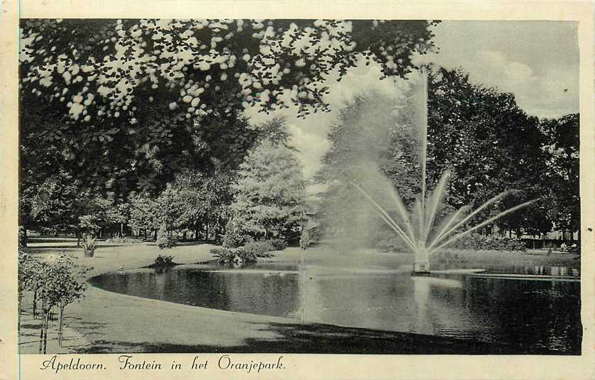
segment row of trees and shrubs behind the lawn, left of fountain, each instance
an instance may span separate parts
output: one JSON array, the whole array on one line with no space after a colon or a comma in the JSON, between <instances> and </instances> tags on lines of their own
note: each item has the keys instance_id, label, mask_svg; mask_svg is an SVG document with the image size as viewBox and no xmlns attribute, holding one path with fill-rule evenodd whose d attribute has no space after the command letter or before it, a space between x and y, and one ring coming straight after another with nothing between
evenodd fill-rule
<instances>
[{"instance_id":1,"label":"row of trees and shrubs behind the lawn, left of fountain","mask_svg":"<svg viewBox=\"0 0 595 380\"><path fill-rule=\"evenodd\" d=\"M21 195L21 223L43 234L156 239L164 229L182 239L221 241L233 219L246 237L296 240L304 214L301 166L287 145L284 119L261 131L235 168L183 168L156 193L93 192L61 170Z\"/></svg>"}]
</instances>

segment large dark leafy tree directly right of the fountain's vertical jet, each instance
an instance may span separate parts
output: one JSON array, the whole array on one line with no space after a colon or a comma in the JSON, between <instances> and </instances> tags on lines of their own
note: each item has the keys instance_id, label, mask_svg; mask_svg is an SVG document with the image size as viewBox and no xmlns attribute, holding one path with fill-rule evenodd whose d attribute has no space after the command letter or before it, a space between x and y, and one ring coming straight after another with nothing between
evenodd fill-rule
<instances>
[{"instance_id":1,"label":"large dark leafy tree directly right of the fountain's vertical jet","mask_svg":"<svg viewBox=\"0 0 595 380\"><path fill-rule=\"evenodd\" d=\"M473 85L461 69L436 70L429 75L428 123L429 176L436 183L441 170L451 169L448 202L454 207L479 205L509 191L488 211L495 214L545 195L545 136L539 120L525 114L513 94ZM533 205L498 225L518 234L549 231L551 224L534 223L544 217L541 211Z\"/></svg>"}]
</instances>

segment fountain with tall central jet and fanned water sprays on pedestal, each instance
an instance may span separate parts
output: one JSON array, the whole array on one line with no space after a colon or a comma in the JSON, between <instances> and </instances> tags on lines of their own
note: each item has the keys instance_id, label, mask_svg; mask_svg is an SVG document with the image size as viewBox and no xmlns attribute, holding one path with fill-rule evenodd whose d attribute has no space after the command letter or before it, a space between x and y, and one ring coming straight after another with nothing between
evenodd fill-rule
<instances>
[{"instance_id":1,"label":"fountain with tall central jet and fanned water sprays on pedestal","mask_svg":"<svg viewBox=\"0 0 595 380\"><path fill-rule=\"evenodd\" d=\"M434 254L441 248L444 248L448 244L451 244L457 239L470 234L471 232L486 226L494 222L496 219L503 217L504 215L510 214L522 207L530 205L535 200L521 203L515 207L510 207L508 210L500 212L494 217L490 217L473 227L465 229L462 232L457 232L457 229L466 225L473 217L478 215L479 212L486 209L489 205L502 199L507 192L502 192L499 195L491 198L483 205L478 207L476 210L469 212L468 206L461 207L451 215L444 217L443 225L438 231L433 232L434 224L436 222L436 213L439 210L444 195L446 194L446 184L448 183L450 172L446 170L434 188L434 191L426 194L426 163L427 163L427 129L428 129L428 102L427 102L427 69L422 67L421 71L421 85L417 85L418 89L418 102L420 112L420 136L421 136L421 167L422 167L422 190L415 197L415 201L412 210L408 211L401 200L400 195L396 190L392 190L392 198L395 200L397 209L397 217L391 217L384 208L382 208L369 194L366 192L361 185L351 183L357 188L371 203L374 205L375 212L395 231L398 237L407 244L407 247L415 254L415 262L413 266L412 274L414 275L428 275L429 274L429 256ZM413 223L415 221L416 223Z\"/></svg>"}]
</instances>

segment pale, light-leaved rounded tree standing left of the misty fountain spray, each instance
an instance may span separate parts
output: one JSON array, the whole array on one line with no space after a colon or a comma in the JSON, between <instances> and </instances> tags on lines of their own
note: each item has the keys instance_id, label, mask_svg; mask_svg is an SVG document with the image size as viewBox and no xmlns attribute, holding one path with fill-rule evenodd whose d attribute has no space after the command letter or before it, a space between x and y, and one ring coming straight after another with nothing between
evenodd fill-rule
<instances>
[{"instance_id":1,"label":"pale, light-leaved rounded tree standing left of the misty fountain spray","mask_svg":"<svg viewBox=\"0 0 595 380\"><path fill-rule=\"evenodd\" d=\"M303 219L304 181L294 153L263 141L240 165L232 203L234 222L254 237L294 237Z\"/></svg>"}]
</instances>

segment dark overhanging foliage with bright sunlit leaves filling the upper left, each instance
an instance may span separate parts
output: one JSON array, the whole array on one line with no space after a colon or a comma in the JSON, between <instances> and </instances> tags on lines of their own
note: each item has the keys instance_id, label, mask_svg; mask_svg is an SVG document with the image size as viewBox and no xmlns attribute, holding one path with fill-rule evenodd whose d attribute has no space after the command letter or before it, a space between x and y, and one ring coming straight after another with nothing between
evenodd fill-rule
<instances>
[{"instance_id":1,"label":"dark overhanging foliage with bright sunlit leaves filling the upper left","mask_svg":"<svg viewBox=\"0 0 595 380\"><path fill-rule=\"evenodd\" d=\"M330 73L361 57L402 77L435 23L23 20L21 162L35 177L23 184L65 168L91 187L154 194L179 168L241 163L254 140L246 107L287 107L289 95L302 116L324 110Z\"/></svg>"}]
</instances>

